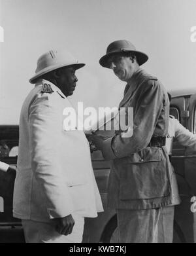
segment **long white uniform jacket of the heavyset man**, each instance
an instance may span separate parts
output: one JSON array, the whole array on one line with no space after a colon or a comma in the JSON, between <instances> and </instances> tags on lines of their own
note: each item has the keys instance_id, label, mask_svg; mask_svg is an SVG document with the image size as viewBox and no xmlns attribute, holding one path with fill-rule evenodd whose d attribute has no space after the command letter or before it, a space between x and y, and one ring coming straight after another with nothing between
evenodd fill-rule
<instances>
[{"instance_id":1,"label":"long white uniform jacket of the heavyset man","mask_svg":"<svg viewBox=\"0 0 196 256\"><path fill-rule=\"evenodd\" d=\"M49 84L54 92L42 92ZM103 211L88 140L83 131L63 129L63 110L72 107L51 82L35 84L20 115L14 217L48 221L77 212Z\"/></svg>"}]
</instances>

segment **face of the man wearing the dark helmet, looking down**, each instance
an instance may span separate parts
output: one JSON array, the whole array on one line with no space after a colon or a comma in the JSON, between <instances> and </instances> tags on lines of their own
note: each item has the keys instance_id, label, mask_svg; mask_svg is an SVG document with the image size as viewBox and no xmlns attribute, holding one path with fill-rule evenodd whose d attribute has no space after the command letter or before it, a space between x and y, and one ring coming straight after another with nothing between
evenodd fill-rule
<instances>
[{"instance_id":1,"label":"face of the man wearing the dark helmet, looking down","mask_svg":"<svg viewBox=\"0 0 196 256\"><path fill-rule=\"evenodd\" d=\"M110 68L113 69L114 74L122 81L131 79L136 71L137 62L131 57L114 55L108 60Z\"/></svg>"}]
</instances>

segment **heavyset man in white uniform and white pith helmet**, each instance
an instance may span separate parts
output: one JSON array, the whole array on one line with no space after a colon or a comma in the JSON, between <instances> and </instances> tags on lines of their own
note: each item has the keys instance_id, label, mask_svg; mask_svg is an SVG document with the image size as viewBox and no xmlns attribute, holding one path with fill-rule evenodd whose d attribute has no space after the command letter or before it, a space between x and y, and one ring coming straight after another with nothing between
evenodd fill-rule
<instances>
[{"instance_id":1,"label":"heavyset man in white uniform and white pith helmet","mask_svg":"<svg viewBox=\"0 0 196 256\"><path fill-rule=\"evenodd\" d=\"M26 242L81 242L84 217L103 211L88 140L63 122L83 66L68 52L50 50L29 80L35 88L20 115L13 209Z\"/></svg>"}]
</instances>

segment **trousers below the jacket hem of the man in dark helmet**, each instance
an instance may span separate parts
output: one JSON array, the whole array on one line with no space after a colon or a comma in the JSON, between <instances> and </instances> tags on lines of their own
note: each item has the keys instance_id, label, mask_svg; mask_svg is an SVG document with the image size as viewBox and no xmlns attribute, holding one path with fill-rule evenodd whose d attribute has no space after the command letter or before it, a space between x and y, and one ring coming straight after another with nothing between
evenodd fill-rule
<instances>
[{"instance_id":1,"label":"trousers below the jacket hem of the man in dark helmet","mask_svg":"<svg viewBox=\"0 0 196 256\"><path fill-rule=\"evenodd\" d=\"M118 242L171 243L174 206L150 210L116 210Z\"/></svg>"}]
</instances>

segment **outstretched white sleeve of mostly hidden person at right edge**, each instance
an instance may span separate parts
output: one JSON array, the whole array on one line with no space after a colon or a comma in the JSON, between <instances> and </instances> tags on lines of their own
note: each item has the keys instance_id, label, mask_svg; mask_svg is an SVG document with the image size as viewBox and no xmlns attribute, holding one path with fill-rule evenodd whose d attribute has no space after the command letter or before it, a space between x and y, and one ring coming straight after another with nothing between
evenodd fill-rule
<instances>
[{"instance_id":1,"label":"outstretched white sleeve of mostly hidden person at right edge","mask_svg":"<svg viewBox=\"0 0 196 256\"><path fill-rule=\"evenodd\" d=\"M173 119L175 122L175 137L174 140L178 141L185 147L192 148L196 151L196 134L189 132L177 119Z\"/></svg>"}]
</instances>

